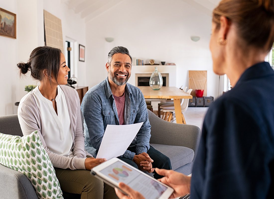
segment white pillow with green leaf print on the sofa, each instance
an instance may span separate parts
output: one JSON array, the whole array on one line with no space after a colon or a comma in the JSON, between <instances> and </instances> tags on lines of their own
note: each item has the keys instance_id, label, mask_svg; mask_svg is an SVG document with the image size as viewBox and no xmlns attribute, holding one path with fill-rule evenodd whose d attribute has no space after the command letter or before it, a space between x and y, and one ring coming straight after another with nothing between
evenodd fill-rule
<instances>
[{"instance_id":1,"label":"white pillow with green leaf print on the sofa","mask_svg":"<svg viewBox=\"0 0 274 199\"><path fill-rule=\"evenodd\" d=\"M37 131L23 137L0 133L0 163L23 173L38 198L63 198L52 162Z\"/></svg>"}]
</instances>

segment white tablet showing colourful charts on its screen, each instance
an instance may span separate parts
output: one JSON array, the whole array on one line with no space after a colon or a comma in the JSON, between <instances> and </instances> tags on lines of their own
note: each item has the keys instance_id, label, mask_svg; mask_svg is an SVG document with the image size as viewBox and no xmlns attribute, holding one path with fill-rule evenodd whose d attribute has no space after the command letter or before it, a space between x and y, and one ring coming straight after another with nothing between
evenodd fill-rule
<instances>
[{"instance_id":1,"label":"white tablet showing colourful charts on its screen","mask_svg":"<svg viewBox=\"0 0 274 199\"><path fill-rule=\"evenodd\" d=\"M112 187L119 188L119 183L129 186L137 198L167 199L173 189L166 184L150 177L144 172L132 167L118 158L112 158L92 169L95 177L103 180ZM124 186L127 188L127 186ZM121 188L119 188L122 192ZM126 194L126 193L125 193ZM133 196L132 196L133 197Z\"/></svg>"}]
</instances>

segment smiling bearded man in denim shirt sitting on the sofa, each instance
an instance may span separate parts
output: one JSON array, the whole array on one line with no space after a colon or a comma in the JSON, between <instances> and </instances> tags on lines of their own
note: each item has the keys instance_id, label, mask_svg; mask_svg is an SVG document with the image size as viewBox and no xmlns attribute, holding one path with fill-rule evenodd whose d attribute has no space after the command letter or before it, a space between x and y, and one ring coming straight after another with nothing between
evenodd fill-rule
<instances>
[{"instance_id":1,"label":"smiling bearded man in denim shirt sitting on the sofa","mask_svg":"<svg viewBox=\"0 0 274 199\"><path fill-rule=\"evenodd\" d=\"M132 57L127 48L113 48L105 65L108 77L85 94L81 104L85 149L96 157L108 124L144 122L129 148L118 158L137 169L153 172L158 179L162 176L154 169L171 169L171 163L167 156L149 145L150 123L144 96L139 88L127 83L131 65Z\"/></svg>"}]
</instances>

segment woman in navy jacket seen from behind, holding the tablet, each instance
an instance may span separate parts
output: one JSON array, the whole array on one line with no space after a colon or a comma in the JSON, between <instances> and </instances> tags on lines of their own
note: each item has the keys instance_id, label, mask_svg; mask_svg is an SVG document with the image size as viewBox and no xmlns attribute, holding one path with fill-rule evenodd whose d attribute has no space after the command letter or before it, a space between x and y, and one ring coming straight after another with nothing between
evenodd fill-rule
<instances>
[{"instance_id":1,"label":"woman in navy jacket seen from behind, holding the tablet","mask_svg":"<svg viewBox=\"0 0 274 199\"><path fill-rule=\"evenodd\" d=\"M274 198L274 71L264 61L273 42L274 0L222 0L213 10L213 71L233 89L209 107L192 177L155 169L171 198Z\"/></svg>"}]
</instances>

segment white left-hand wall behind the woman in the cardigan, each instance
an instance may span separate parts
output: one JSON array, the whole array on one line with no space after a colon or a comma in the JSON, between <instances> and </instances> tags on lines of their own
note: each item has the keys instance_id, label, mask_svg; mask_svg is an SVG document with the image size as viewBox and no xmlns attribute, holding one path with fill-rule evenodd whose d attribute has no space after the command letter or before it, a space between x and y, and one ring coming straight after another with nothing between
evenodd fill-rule
<instances>
[{"instance_id":1,"label":"white left-hand wall behind the woman in the cardigan","mask_svg":"<svg viewBox=\"0 0 274 199\"><path fill-rule=\"evenodd\" d=\"M17 38L0 36L0 80L2 82L0 97L0 116L15 114L15 102L27 94L25 85L37 84L30 78L19 78L16 64L26 62L31 51L44 45L43 9L61 19L63 40L65 36L85 45L85 21L67 8L60 0L1 0L0 7L17 15ZM78 51L78 48L77 48ZM78 59L78 57L77 57ZM78 85L85 85L85 63L78 65Z\"/></svg>"}]
</instances>

